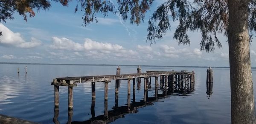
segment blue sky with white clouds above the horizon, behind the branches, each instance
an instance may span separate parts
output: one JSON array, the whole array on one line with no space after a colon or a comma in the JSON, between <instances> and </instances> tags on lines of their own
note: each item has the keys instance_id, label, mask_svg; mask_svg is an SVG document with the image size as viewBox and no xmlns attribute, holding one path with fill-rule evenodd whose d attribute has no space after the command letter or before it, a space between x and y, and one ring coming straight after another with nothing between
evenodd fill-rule
<instances>
[{"instance_id":1,"label":"blue sky with white clouds above the horizon, behind the branches","mask_svg":"<svg viewBox=\"0 0 256 124\"><path fill-rule=\"evenodd\" d=\"M83 24L83 13L74 13L76 0L68 7L52 3L35 17L24 21L15 14L14 20L0 23L0 62L229 66L227 37L218 35L222 48L213 52L200 51L200 32L190 32L189 45L173 39L178 22L156 44L146 40L148 18L163 0L157 0L139 26L123 21L120 16L97 14L98 23ZM250 45L252 67L256 67L256 38Z\"/></svg>"}]
</instances>

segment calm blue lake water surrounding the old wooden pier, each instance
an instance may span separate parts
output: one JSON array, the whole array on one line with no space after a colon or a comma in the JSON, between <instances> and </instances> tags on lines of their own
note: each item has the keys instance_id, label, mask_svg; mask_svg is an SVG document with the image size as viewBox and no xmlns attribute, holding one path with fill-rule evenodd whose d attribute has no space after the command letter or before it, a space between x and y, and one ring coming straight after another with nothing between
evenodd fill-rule
<instances>
[{"instance_id":1,"label":"calm blue lake water surrounding the old wooden pier","mask_svg":"<svg viewBox=\"0 0 256 124\"><path fill-rule=\"evenodd\" d=\"M25 66L28 73L25 75ZM17 73L20 68L20 73ZM208 96L206 91L207 68L171 68L171 67L141 67L147 70L195 71L194 91L182 95L169 94L166 97L144 104L136 113L123 114L115 119L114 124L230 124L230 76L228 68L213 68L213 93ZM121 66L121 74L136 73L135 66ZM252 70L253 75L256 70ZM0 114L13 116L42 124L53 124L54 86L52 79L66 76L91 76L116 74L116 66L93 65L14 65L0 64ZM152 79L154 81L154 78ZM256 87L256 76L253 77L253 87ZM136 85L137 86L137 85ZM148 101L154 98L155 85L148 90ZM73 87L73 111L68 116L68 87L59 87L60 105L58 121L65 124L70 119L73 123L86 123L92 118L91 113L91 83L81 83ZM143 103L144 86L135 91L135 101ZM163 89L158 90L163 95ZM131 104L133 102L131 81ZM254 90L254 94L255 90ZM127 108L127 81L122 80L119 88L118 107L115 107L115 82L108 84L108 111L122 113ZM104 83L96 82L95 117L104 115ZM55 121L55 122L58 122Z\"/></svg>"}]
</instances>

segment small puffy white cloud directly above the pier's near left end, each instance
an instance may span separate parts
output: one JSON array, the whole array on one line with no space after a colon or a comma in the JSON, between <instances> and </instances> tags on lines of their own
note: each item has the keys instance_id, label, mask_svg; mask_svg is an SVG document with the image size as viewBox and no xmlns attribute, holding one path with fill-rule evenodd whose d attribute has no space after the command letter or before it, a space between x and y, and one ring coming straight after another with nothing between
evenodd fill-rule
<instances>
[{"instance_id":1,"label":"small puffy white cloud directly above the pier's near left end","mask_svg":"<svg viewBox=\"0 0 256 124\"><path fill-rule=\"evenodd\" d=\"M52 37L52 45L50 45L50 48L60 50L82 51L83 45L81 45L80 43L73 42L72 40L67 39L65 37Z\"/></svg>"}]
</instances>

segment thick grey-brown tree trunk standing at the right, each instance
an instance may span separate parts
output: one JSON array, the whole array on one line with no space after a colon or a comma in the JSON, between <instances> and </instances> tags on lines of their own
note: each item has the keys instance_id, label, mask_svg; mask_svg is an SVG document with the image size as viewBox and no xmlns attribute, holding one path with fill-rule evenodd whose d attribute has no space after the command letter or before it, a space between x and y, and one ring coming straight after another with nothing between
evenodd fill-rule
<instances>
[{"instance_id":1,"label":"thick grey-brown tree trunk standing at the right","mask_svg":"<svg viewBox=\"0 0 256 124\"><path fill-rule=\"evenodd\" d=\"M249 1L228 0L232 124L256 123L248 34Z\"/></svg>"}]
</instances>

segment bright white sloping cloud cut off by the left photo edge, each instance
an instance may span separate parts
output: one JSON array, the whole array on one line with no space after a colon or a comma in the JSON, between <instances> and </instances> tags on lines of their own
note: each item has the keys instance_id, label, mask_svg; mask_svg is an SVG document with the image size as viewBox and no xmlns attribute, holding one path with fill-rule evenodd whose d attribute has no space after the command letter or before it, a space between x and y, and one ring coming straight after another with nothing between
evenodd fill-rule
<instances>
[{"instance_id":1,"label":"bright white sloping cloud cut off by the left photo edge","mask_svg":"<svg viewBox=\"0 0 256 124\"><path fill-rule=\"evenodd\" d=\"M18 48L32 48L41 45L41 41L31 38L30 42L26 42L20 33L14 33L9 28L0 23L0 31L2 31L3 36L0 37L0 45L18 47Z\"/></svg>"}]
</instances>

